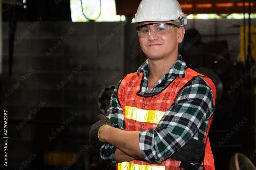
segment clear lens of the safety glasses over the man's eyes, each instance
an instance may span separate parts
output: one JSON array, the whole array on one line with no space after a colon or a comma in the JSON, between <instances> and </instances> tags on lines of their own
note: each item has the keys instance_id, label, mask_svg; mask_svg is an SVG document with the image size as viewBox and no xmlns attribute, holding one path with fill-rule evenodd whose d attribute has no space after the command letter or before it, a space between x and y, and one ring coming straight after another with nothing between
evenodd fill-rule
<instances>
[{"instance_id":1,"label":"clear lens of the safety glasses over the man's eyes","mask_svg":"<svg viewBox=\"0 0 256 170\"><path fill-rule=\"evenodd\" d=\"M157 35L165 35L168 34L170 32L172 32L172 26L171 25L167 25L165 23L160 23L160 24L153 24L153 25L145 25L143 27L140 27L138 29L138 35L141 38L146 38L148 37L150 34L152 34L153 32Z\"/></svg>"}]
</instances>

